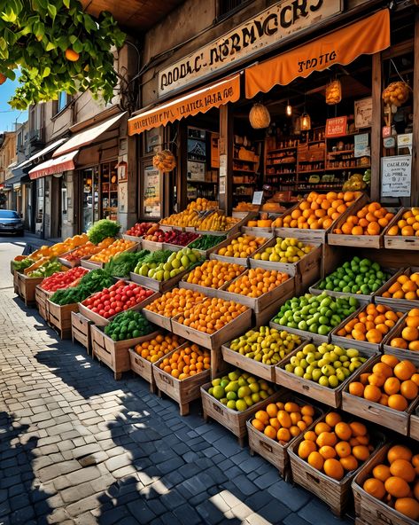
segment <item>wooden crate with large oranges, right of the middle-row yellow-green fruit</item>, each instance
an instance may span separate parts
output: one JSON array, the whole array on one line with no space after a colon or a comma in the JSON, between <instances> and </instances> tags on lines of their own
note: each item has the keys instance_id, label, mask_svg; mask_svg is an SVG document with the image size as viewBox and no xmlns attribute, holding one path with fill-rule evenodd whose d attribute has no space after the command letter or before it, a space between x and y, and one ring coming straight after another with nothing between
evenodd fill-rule
<instances>
[{"instance_id":1,"label":"wooden crate with large oranges, right of the middle-row yellow-green fruit","mask_svg":"<svg viewBox=\"0 0 419 525\"><path fill-rule=\"evenodd\" d=\"M411 361L391 354L372 357L345 386L342 409L407 435L418 383L419 373Z\"/></svg>"}]
</instances>

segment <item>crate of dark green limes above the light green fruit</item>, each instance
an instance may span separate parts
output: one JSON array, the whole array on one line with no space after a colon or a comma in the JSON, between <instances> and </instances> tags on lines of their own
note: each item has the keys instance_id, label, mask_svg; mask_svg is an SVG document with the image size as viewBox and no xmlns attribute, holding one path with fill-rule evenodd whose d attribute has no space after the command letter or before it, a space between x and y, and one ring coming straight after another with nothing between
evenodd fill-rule
<instances>
[{"instance_id":1,"label":"crate of dark green limes above the light green fruit","mask_svg":"<svg viewBox=\"0 0 419 525\"><path fill-rule=\"evenodd\" d=\"M356 296L360 302L370 302L371 296L392 277L394 270L386 270L369 259L353 257L326 278L310 287L311 294L326 291L334 297Z\"/></svg>"}]
</instances>

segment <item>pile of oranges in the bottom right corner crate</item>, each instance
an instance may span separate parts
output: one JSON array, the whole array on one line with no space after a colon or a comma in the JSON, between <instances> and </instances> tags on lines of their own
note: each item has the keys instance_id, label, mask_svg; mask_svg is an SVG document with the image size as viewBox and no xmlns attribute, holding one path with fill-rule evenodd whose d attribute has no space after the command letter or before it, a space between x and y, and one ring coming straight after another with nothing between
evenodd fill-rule
<instances>
[{"instance_id":1,"label":"pile of oranges in the bottom right corner crate","mask_svg":"<svg viewBox=\"0 0 419 525\"><path fill-rule=\"evenodd\" d=\"M419 454L396 444L387 452L387 463L376 465L373 477L362 488L412 520L419 520Z\"/></svg>"}]
</instances>

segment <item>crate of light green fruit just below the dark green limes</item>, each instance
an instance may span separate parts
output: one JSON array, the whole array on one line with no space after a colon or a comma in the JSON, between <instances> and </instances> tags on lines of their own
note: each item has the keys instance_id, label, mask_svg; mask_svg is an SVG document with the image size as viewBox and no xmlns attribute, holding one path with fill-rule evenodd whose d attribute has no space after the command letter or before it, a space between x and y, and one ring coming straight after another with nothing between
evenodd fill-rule
<instances>
[{"instance_id":1,"label":"crate of light green fruit just below the dark green limes","mask_svg":"<svg viewBox=\"0 0 419 525\"><path fill-rule=\"evenodd\" d=\"M311 338L314 342L328 342L330 332L352 315L358 306L355 297L332 297L326 292L320 295L304 294L284 302L269 325Z\"/></svg>"}]
</instances>

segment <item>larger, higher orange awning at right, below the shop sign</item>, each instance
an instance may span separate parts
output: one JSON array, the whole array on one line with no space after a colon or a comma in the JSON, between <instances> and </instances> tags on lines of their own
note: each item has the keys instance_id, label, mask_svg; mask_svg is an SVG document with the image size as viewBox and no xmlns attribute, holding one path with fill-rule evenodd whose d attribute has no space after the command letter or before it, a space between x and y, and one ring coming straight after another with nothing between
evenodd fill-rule
<instances>
[{"instance_id":1,"label":"larger, higher orange awning at right, below the shop sign","mask_svg":"<svg viewBox=\"0 0 419 525\"><path fill-rule=\"evenodd\" d=\"M312 43L287 51L245 70L246 98L271 90L276 84L286 86L299 77L306 78L334 64L350 64L360 55L371 55L390 46L388 9L324 35Z\"/></svg>"}]
</instances>

